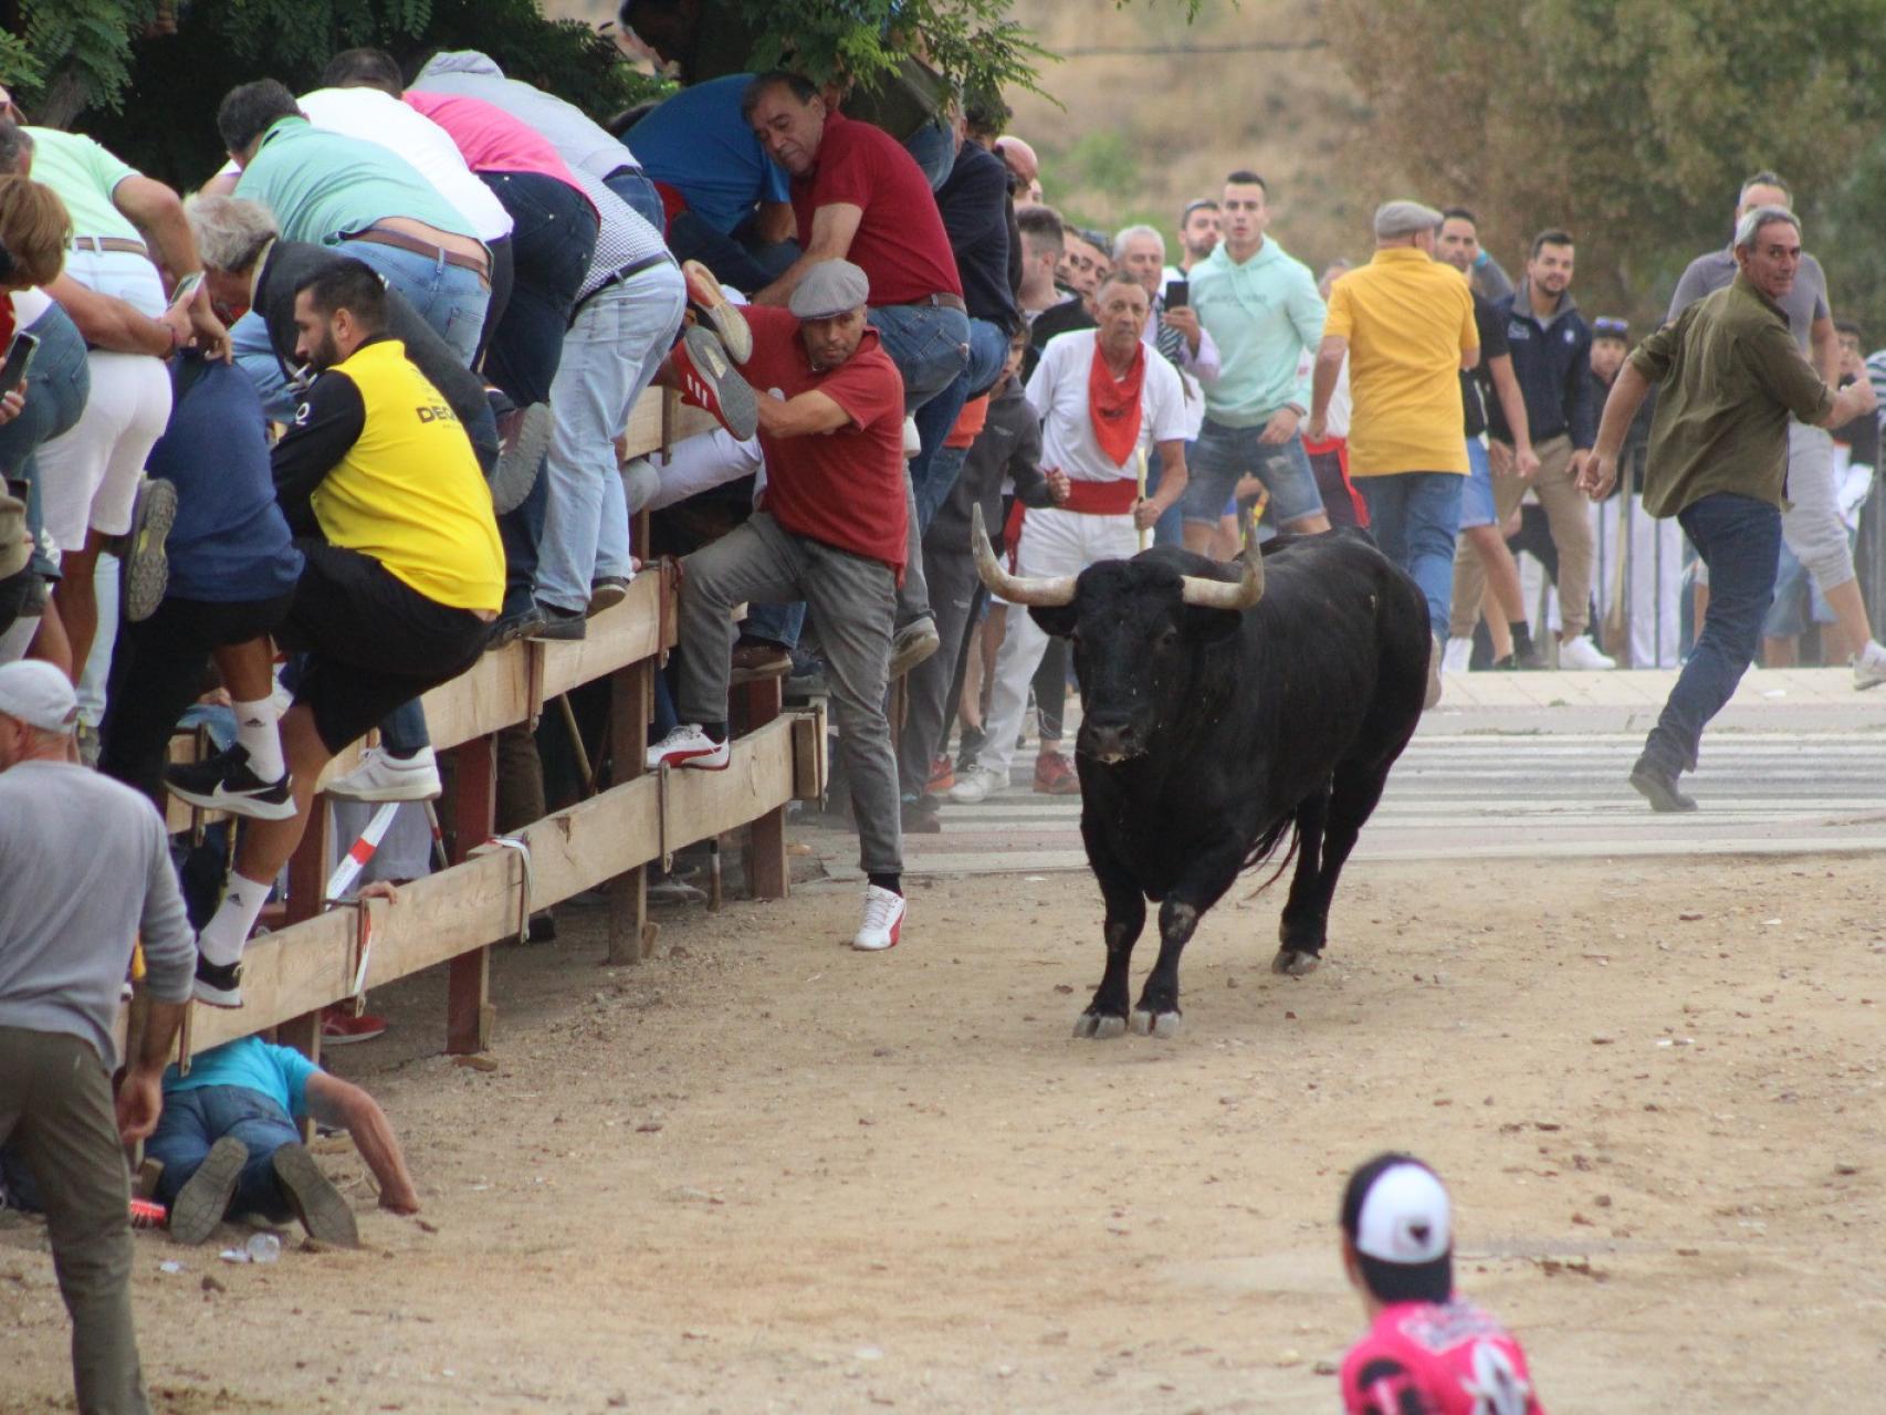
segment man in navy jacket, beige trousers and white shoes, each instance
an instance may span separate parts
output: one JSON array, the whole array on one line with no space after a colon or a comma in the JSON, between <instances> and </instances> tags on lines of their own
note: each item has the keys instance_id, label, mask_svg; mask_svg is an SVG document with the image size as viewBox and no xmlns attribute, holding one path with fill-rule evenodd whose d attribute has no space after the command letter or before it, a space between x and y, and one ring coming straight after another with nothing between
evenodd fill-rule
<instances>
[{"instance_id":1,"label":"man in navy jacket, beige trousers and white shoes","mask_svg":"<svg viewBox=\"0 0 1886 1415\"><path fill-rule=\"evenodd\" d=\"M1584 632L1592 623L1594 551L1590 509L1577 481L1597 436L1597 409L1586 379L1592 330L1569 291L1573 255L1569 232L1539 232L1518 287L1496 300L1494 308L1505 319L1513 374L1526 396L1526 421L1539 455L1539 472L1530 489L1545 508L1552 543L1558 547L1558 666L1616 668L1616 660L1607 658ZM1494 464L1494 508L1503 523L1526 496L1528 481L1516 472L1513 432L1497 402L1486 409L1486 421L1492 434L1488 458ZM1456 594L1464 589L1471 596L1469 604L1477 604L1484 572L1471 562L1462 579L1465 583L1456 585Z\"/></svg>"}]
</instances>

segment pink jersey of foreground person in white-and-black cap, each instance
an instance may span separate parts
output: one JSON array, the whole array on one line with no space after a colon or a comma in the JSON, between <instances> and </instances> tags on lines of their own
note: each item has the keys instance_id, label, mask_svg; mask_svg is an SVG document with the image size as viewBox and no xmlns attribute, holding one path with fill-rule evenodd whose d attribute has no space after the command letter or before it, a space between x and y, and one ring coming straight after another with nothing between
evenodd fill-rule
<instances>
[{"instance_id":1,"label":"pink jersey of foreground person in white-and-black cap","mask_svg":"<svg viewBox=\"0 0 1886 1415\"><path fill-rule=\"evenodd\" d=\"M1526 1353L1471 1302L1398 1302L1343 1360L1348 1415L1545 1415Z\"/></svg>"}]
</instances>

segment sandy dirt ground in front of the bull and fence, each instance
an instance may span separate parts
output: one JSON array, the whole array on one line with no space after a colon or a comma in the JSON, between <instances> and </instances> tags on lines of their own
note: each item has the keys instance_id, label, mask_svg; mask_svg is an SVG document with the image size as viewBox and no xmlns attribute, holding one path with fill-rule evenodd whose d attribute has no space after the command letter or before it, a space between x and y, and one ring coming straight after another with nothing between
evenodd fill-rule
<instances>
[{"instance_id":1,"label":"sandy dirt ground in front of the bull and fence","mask_svg":"<svg viewBox=\"0 0 1886 1415\"><path fill-rule=\"evenodd\" d=\"M434 1053L438 977L330 1057L424 1223L326 1140L364 1251L140 1236L145 1372L166 1411L1330 1411L1341 1181L1409 1147L1556 1415L1880 1409L1878 883L1364 864L1307 979L1267 972L1275 894L1209 915L1171 1041L1071 1040L1084 875L915 881L881 957L851 887L670 913L622 970L566 907L500 951L494 1070ZM0 1228L0 1406L68 1409L38 1224Z\"/></svg>"}]
</instances>

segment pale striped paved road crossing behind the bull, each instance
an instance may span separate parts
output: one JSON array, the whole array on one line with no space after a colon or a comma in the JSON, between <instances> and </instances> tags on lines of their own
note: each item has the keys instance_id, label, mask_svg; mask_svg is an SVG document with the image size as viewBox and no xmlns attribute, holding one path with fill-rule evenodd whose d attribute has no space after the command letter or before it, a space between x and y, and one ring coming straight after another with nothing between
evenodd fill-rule
<instances>
[{"instance_id":1,"label":"pale striped paved road crossing behind the bull","mask_svg":"<svg viewBox=\"0 0 1886 1415\"><path fill-rule=\"evenodd\" d=\"M1875 704L1867 704L1873 708ZM1877 704L1886 708L1886 704ZM1409 745L1358 858L1790 855L1886 851L1886 732L1720 732L1686 777L1696 815L1658 815L1626 783L1641 732L1447 730L1430 719ZM949 804L943 830L905 838L913 874L1086 870L1079 796L1015 785L979 806ZM849 847L828 860L851 874Z\"/></svg>"}]
</instances>

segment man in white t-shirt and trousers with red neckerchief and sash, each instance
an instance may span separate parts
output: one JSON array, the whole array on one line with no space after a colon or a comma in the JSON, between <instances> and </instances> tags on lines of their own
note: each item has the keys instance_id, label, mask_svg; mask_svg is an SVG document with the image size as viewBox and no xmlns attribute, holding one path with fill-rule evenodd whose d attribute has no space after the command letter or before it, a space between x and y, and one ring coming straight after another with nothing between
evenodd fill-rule
<instances>
[{"instance_id":1,"label":"man in white t-shirt and trousers with red neckerchief and sash","mask_svg":"<svg viewBox=\"0 0 1886 1415\"><path fill-rule=\"evenodd\" d=\"M1184 494L1184 391L1173 366L1141 341L1150 302L1124 270L1094 292L1100 328L1049 340L1028 379L1028 402L1041 419L1041 470L1058 506L1028 511L1009 545L1022 575L1077 575L1096 560L1124 560ZM1141 466L1158 451L1166 474L1141 496ZM1049 636L1032 615L1009 615L996 657L988 740L973 768L956 779L954 802L979 802L1009 785L1009 760L1022 726L1028 681Z\"/></svg>"}]
</instances>

